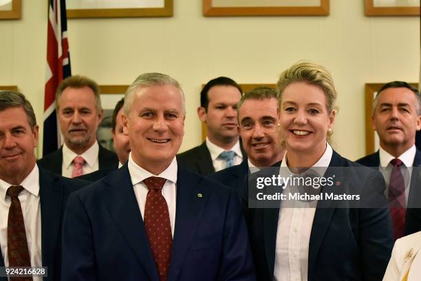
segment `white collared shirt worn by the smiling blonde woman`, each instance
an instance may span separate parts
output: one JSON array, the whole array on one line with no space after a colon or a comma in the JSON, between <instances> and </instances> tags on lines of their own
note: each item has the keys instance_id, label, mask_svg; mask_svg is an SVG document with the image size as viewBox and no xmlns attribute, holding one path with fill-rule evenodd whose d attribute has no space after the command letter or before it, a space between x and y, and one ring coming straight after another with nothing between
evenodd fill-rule
<instances>
[{"instance_id":1,"label":"white collared shirt worn by the smiling blonde woman","mask_svg":"<svg viewBox=\"0 0 421 281\"><path fill-rule=\"evenodd\" d=\"M283 156L281 173L292 174L287 166L287 154L285 153L285 156ZM316 169L317 172L324 174L330 164L332 154L332 147L327 143L325 153L312 167L319 167L319 169ZM314 207L281 207L279 209L274 280L307 280L310 233L312 232L315 212Z\"/></svg>"}]
</instances>

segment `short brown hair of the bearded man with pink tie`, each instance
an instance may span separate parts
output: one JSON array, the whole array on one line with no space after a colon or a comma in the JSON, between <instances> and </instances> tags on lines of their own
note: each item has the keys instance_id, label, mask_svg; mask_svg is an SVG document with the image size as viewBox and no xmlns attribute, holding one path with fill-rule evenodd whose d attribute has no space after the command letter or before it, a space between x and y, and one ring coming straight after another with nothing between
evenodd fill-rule
<instances>
[{"instance_id":1,"label":"short brown hair of the bearded man with pink tie","mask_svg":"<svg viewBox=\"0 0 421 281\"><path fill-rule=\"evenodd\" d=\"M60 85L58 85L57 91L56 91L56 107L57 107L57 110L58 110L58 101L60 101L61 94L63 94L63 91L67 87L71 87L71 88L74 88L74 89L89 87L92 90L92 92L94 92L96 110L98 112L100 112L102 110L101 98L100 98L100 92L99 92L98 84L94 80L89 79L86 76L82 76L82 75L69 76L66 79L64 79L63 81L61 81Z\"/></svg>"}]
</instances>

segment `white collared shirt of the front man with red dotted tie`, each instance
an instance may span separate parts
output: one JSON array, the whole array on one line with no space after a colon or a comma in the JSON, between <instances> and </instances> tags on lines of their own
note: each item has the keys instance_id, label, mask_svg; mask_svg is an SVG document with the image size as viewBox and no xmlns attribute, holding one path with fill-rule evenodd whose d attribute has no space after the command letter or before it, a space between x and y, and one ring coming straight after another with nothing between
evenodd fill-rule
<instances>
[{"instance_id":1,"label":"white collared shirt of the front man with red dotted tie","mask_svg":"<svg viewBox=\"0 0 421 281\"><path fill-rule=\"evenodd\" d=\"M131 178L131 183L135 192L136 200L138 201L140 214L144 218L144 205L146 204L146 198L148 195L148 187L143 183L143 180L151 176L159 176L160 178L165 178L166 182L164 187L162 187L162 196L166 200L166 205L168 205L170 224L171 224L171 233L174 237L174 227L175 227L175 201L177 199L177 160L175 157L173 162L169 165L165 171L162 171L159 175L151 174L149 171L138 166L133 158L131 158L131 152L129 155L129 173Z\"/></svg>"}]
</instances>

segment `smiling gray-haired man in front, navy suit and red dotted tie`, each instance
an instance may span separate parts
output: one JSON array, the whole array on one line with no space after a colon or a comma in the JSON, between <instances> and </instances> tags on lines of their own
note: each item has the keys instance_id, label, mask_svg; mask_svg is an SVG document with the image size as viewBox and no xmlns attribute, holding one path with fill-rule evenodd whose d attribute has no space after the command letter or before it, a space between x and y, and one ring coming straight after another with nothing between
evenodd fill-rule
<instances>
[{"instance_id":1,"label":"smiling gray-haired man in front, navy suit and red dotted tie","mask_svg":"<svg viewBox=\"0 0 421 281\"><path fill-rule=\"evenodd\" d=\"M180 84L142 74L124 110L129 161L69 198L63 280L255 280L234 191L177 165Z\"/></svg>"}]
</instances>

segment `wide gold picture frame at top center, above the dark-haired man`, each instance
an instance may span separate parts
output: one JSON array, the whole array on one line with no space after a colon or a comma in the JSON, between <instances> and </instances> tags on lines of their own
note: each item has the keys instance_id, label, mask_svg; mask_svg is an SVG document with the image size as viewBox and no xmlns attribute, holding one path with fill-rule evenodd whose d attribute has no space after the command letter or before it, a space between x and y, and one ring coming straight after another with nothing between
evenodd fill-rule
<instances>
[{"instance_id":1,"label":"wide gold picture frame at top center, above the dark-haired man","mask_svg":"<svg viewBox=\"0 0 421 281\"><path fill-rule=\"evenodd\" d=\"M205 17L237 17L237 16L327 16L330 13L330 0L319 0L319 6L261 6L260 0L254 0L256 6L249 6L246 0L231 0L235 6L216 6L216 0L203 0L203 15ZM299 0L305 1L305 0ZM308 1L308 0L307 0ZM243 6L241 6L243 3ZM286 2L285 2L286 3ZM260 6L259 6L260 5Z\"/></svg>"}]
</instances>

